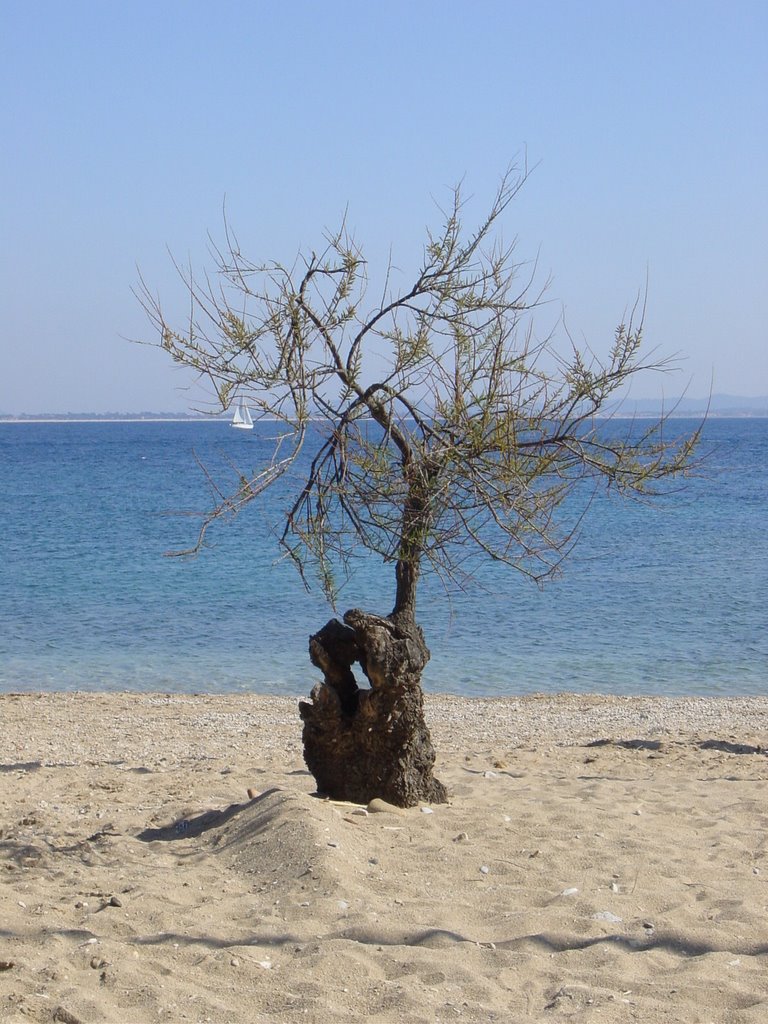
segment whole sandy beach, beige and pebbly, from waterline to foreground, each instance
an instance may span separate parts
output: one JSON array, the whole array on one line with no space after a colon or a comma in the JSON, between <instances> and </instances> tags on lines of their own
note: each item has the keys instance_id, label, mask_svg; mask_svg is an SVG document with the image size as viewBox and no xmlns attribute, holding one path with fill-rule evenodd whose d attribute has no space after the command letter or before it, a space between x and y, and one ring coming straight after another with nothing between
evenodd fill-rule
<instances>
[{"instance_id":1,"label":"whole sandy beach, beige and pebbly, from waterline to foreground","mask_svg":"<svg viewBox=\"0 0 768 1024\"><path fill-rule=\"evenodd\" d=\"M0 1021L768 1021L768 698L427 714L366 813L293 699L0 696Z\"/></svg>"}]
</instances>

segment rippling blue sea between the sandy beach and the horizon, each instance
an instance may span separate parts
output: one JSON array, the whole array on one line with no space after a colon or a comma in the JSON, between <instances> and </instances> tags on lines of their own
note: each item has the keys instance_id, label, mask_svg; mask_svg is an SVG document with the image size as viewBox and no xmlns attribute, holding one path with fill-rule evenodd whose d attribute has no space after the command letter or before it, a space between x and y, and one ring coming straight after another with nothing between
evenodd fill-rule
<instances>
[{"instance_id":1,"label":"rippling blue sea between the sandy beach and the horizon","mask_svg":"<svg viewBox=\"0 0 768 1024\"><path fill-rule=\"evenodd\" d=\"M0 423L0 691L308 693L308 637L334 609L280 559L298 480L216 523L196 557L167 556L194 543L212 482L263 465L273 432ZM541 589L484 562L460 591L424 577L425 689L765 693L768 420L709 420L699 458L653 505L596 497ZM392 600L392 566L361 554L340 610Z\"/></svg>"}]
</instances>

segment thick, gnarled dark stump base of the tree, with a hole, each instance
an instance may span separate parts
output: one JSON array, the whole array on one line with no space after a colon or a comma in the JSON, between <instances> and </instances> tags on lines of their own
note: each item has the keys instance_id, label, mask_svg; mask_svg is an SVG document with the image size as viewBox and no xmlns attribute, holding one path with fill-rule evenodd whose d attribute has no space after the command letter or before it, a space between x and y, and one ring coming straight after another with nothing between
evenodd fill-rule
<instances>
[{"instance_id":1,"label":"thick, gnarled dark stump base of the tree, with a hole","mask_svg":"<svg viewBox=\"0 0 768 1024\"><path fill-rule=\"evenodd\" d=\"M429 660L412 622L352 609L309 639L325 681L301 701L304 760L317 792L367 804L380 797L398 807L444 803L432 774L434 748L424 721L421 673ZM357 663L371 686L360 688Z\"/></svg>"}]
</instances>

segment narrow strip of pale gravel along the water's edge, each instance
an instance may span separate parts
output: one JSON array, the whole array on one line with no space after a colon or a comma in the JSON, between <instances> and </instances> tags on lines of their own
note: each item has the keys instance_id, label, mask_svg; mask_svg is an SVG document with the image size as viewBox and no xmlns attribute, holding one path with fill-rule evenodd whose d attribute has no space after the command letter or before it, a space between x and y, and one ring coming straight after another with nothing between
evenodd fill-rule
<instances>
[{"instance_id":1,"label":"narrow strip of pale gravel along the water's edge","mask_svg":"<svg viewBox=\"0 0 768 1024\"><path fill-rule=\"evenodd\" d=\"M4 761L155 764L230 757L301 757L299 697L260 694L0 694ZM701 738L768 745L768 696L426 695L438 755L488 744Z\"/></svg>"}]
</instances>

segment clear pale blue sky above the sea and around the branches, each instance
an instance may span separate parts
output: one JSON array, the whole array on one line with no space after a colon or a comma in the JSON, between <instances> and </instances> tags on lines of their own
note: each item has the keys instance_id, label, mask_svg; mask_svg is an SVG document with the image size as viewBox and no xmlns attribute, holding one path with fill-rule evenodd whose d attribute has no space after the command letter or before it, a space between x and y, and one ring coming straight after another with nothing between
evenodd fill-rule
<instances>
[{"instance_id":1,"label":"clear pale blue sky above the sea and around the branches","mask_svg":"<svg viewBox=\"0 0 768 1024\"><path fill-rule=\"evenodd\" d=\"M136 267L180 306L224 197L289 259L344 208L414 265L433 198L476 209L524 147L505 233L604 351L648 274L682 374L768 393L765 0L0 0L0 412L183 411ZM559 306L558 306L559 309ZM199 395L198 395L199 397Z\"/></svg>"}]
</instances>

